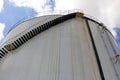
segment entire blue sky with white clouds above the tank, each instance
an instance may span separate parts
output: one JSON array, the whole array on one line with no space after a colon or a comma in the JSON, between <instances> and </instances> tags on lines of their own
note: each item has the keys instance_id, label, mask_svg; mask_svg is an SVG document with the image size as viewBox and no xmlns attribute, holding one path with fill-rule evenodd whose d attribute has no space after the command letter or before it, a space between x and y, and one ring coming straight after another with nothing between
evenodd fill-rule
<instances>
[{"instance_id":1,"label":"entire blue sky with white clouds above the tank","mask_svg":"<svg viewBox=\"0 0 120 80\"><path fill-rule=\"evenodd\" d=\"M47 10L81 9L109 26L120 46L119 0L0 0L0 43L20 20Z\"/></svg>"}]
</instances>

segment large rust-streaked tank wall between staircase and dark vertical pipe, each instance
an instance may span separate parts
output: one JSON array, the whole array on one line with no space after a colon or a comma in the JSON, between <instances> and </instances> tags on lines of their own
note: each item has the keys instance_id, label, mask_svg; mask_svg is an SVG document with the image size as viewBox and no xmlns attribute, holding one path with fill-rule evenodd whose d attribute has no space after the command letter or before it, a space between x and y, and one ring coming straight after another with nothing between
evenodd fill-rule
<instances>
[{"instance_id":1,"label":"large rust-streaked tank wall between staircase and dark vertical pipe","mask_svg":"<svg viewBox=\"0 0 120 80\"><path fill-rule=\"evenodd\" d=\"M0 65L0 80L100 80L84 20L75 18L32 38Z\"/></svg>"}]
</instances>

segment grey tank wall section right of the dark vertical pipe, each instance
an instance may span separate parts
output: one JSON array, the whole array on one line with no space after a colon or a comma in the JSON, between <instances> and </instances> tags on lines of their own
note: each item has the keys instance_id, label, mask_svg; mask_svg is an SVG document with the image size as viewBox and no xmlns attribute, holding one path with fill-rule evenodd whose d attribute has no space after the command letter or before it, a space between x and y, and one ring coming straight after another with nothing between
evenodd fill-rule
<instances>
[{"instance_id":1,"label":"grey tank wall section right of the dark vertical pipe","mask_svg":"<svg viewBox=\"0 0 120 80\"><path fill-rule=\"evenodd\" d=\"M92 30L92 34L94 36L95 45L97 47L97 51L100 57L105 79L120 80L119 78L120 73L117 72L117 70L119 71L119 68L115 69L115 66L117 67L118 65L116 65L113 60L116 54L116 50L114 50L114 48L116 47L115 46L112 47L111 44L115 44L115 43L113 43L114 41L110 43L110 40L109 40L109 37L111 36L111 34L108 35L109 32L104 31L99 26L99 24L96 24L92 21L89 21L89 24L91 26L90 28Z\"/></svg>"}]
</instances>

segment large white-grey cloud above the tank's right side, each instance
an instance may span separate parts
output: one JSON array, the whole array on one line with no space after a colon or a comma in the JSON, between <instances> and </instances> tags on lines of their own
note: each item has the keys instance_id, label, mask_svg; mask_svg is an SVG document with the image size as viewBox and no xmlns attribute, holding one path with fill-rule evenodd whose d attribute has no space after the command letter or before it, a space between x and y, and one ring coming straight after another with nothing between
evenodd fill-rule
<instances>
[{"instance_id":1,"label":"large white-grey cloud above the tank's right side","mask_svg":"<svg viewBox=\"0 0 120 80\"><path fill-rule=\"evenodd\" d=\"M120 27L120 0L56 0L55 10L81 9L102 21L116 35Z\"/></svg>"}]
</instances>

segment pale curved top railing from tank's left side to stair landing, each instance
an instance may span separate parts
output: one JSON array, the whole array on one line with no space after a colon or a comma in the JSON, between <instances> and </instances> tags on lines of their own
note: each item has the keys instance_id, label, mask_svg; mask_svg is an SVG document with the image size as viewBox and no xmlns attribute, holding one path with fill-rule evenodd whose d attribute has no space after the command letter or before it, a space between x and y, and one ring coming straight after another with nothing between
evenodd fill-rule
<instances>
[{"instance_id":1,"label":"pale curved top railing from tank's left side to stair landing","mask_svg":"<svg viewBox=\"0 0 120 80\"><path fill-rule=\"evenodd\" d=\"M8 31L7 34L9 34L9 32L11 32L14 28L16 28L18 25L20 25L21 23L24 23L26 21L38 18L38 17L44 17L44 16L50 16L50 15L67 15L69 13L74 13L74 12L80 12L83 13L82 10L80 9L74 9L74 10L55 10L55 11L43 11L43 12L38 12L37 14L30 16L30 17L26 17L21 19L20 21L18 21L17 23L15 23L13 25L13 27Z\"/></svg>"}]
</instances>

